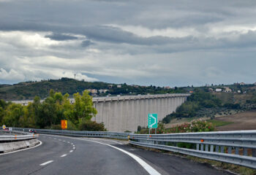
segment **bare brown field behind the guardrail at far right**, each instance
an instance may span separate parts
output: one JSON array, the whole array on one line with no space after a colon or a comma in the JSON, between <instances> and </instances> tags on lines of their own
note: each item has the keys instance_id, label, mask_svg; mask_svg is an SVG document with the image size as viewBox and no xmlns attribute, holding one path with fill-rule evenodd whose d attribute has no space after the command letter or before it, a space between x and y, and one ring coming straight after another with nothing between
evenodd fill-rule
<instances>
[{"instance_id":1,"label":"bare brown field behind the guardrail at far right","mask_svg":"<svg viewBox=\"0 0 256 175\"><path fill-rule=\"evenodd\" d=\"M218 131L256 130L256 110L216 117L214 120L232 122L230 125L217 127Z\"/></svg>"}]
</instances>

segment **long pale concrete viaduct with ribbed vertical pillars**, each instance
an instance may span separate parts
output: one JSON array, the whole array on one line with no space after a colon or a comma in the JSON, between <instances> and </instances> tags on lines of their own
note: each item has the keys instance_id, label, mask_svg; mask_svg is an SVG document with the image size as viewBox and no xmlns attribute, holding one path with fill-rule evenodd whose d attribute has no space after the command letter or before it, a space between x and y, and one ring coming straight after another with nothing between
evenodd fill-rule
<instances>
[{"instance_id":1,"label":"long pale concrete viaduct with ribbed vertical pillars","mask_svg":"<svg viewBox=\"0 0 256 175\"><path fill-rule=\"evenodd\" d=\"M108 131L137 131L138 125L148 125L148 113L158 114L158 121L187 100L189 94L176 93L148 96L115 96L93 98L97 109L91 120L104 123ZM73 103L74 99L70 99ZM27 105L30 101L12 101Z\"/></svg>"}]
</instances>

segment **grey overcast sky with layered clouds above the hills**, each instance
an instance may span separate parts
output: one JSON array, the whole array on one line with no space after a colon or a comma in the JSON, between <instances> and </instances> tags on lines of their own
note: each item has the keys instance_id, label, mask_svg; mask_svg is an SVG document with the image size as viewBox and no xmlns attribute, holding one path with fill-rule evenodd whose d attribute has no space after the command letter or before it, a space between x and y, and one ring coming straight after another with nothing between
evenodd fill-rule
<instances>
[{"instance_id":1,"label":"grey overcast sky with layered clouds above the hills","mask_svg":"<svg viewBox=\"0 0 256 175\"><path fill-rule=\"evenodd\" d=\"M256 82L255 17L255 0L0 0L0 84Z\"/></svg>"}]
</instances>

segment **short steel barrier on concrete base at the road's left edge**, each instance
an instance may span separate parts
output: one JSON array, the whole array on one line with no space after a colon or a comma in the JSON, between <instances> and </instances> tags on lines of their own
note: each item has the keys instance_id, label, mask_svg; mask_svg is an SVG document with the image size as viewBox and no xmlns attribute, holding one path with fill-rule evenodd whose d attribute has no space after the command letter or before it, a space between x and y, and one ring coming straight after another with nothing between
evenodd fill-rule
<instances>
[{"instance_id":1,"label":"short steel barrier on concrete base at the road's left edge","mask_svg":"<svg viewBox=\"0 0 256 175\"><path fill-rule=\"evenodd\" d=\"M0 153L33 147L39 143L37 134L28 134L18 131L1 131L1 133L4 134L0 134Z\"/></svg>"}]
</instances>

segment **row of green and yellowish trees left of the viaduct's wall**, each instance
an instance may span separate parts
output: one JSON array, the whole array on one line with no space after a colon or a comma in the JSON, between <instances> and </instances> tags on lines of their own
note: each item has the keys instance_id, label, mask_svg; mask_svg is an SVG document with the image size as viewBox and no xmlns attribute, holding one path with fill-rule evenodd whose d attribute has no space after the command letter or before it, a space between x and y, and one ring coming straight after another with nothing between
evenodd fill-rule
<instances>
[{"instance_id":1,"label":"row of green and yellowish trees left of the viaduct's wall","mask_svg":"<svg viewBox=\"0 0 256 175\"><path fill-rule=\"evenodd\" d=\"M36 96L27 106L0 101L0 123L10 127L61 129L61 120L68 120L70 130L105 131L102 123L91 121L97 114L89 91L73 94L75 102L70 104L69 94L64 96L50 90L44 101Z\"/></svg>"}]
</instances>

